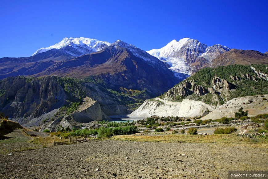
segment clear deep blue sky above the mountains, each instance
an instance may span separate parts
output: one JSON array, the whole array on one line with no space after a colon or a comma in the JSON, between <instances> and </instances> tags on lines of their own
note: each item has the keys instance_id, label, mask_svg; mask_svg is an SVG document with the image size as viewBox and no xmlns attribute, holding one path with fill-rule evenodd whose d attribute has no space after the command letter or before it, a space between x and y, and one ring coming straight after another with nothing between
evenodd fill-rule
<instances>
[{"instance_id":1,"label":"clear deep blue sky above the mountains","mask_svg":"<svg viewBox=\"0 0 268 179\"><path fill-rule=\"evenodd\" d=\"M143 50L188 37L268 51L268 0L2 0L0 17L0 58L31 56L64 37L123 40Z\"/></svg>"}]
</instances>

